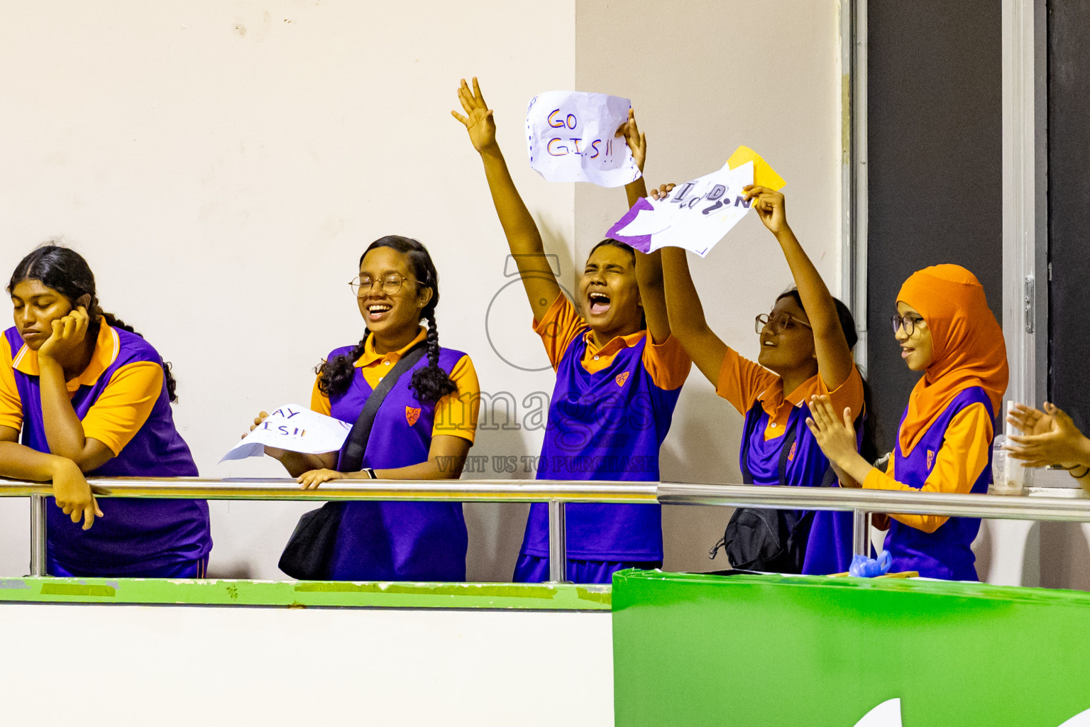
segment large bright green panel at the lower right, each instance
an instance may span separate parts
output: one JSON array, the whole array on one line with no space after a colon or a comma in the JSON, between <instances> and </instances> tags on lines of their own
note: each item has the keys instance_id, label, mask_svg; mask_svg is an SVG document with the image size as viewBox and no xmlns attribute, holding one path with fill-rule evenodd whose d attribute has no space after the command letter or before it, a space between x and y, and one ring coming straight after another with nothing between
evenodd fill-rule
<instances>
[{"instance_id":1,"label":"large bright green panel at the lower right","mask_svg":"<svg viewBox=\"0 0 1090 727\"><path fill-rule=\"evenodd\" d=\"M873 724L1057 727L1090 710L1090 593L625 570L613 603L618 727L852 727L894 699L903 722Z\"/></svg>"}]
</instances>

